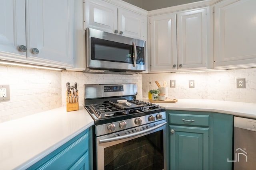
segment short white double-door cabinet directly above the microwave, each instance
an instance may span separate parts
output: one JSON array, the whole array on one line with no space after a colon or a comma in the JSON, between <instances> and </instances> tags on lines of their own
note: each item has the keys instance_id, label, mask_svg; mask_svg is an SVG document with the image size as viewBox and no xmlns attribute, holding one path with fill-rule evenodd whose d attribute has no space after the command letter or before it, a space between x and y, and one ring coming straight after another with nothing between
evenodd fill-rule
<instances>
[{"instance_id":1,"label":"short white double-door cabinet directly above the microwave","mask_svg":"<svg viewBox=\"0 0 256 170\"><path fill-rule=\"evenodd\" d=\"M147 17L102 0L85 0L85 26L136 39L147 38Z\"/></svg>"}]
</instances>

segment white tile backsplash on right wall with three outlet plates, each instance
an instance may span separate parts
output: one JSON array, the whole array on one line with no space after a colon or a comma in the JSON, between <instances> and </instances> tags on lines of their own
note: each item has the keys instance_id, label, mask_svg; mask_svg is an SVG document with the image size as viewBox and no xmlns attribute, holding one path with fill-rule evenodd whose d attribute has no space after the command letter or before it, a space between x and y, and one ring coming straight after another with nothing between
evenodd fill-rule
<instances>
[{"instance_id":1,"label":"white tile backsplash on right wall with three outlet plates","mask_svg":"<svg viewBox=\"0 0 256 170\"><path fill-rule=\"evenodd\" d=\"M246 88L236 88L236 78L246 78ZM256 68L219 72L143 74L143 98L148 98L149 79L154 89L157 88L155 81L162 85L163 80L166 80L169 98L256 103ZM170 88L170 80L176 80L176 88ZM188 80L195 80L195 88L188 88Z\"/></svg>"}]
</instances>

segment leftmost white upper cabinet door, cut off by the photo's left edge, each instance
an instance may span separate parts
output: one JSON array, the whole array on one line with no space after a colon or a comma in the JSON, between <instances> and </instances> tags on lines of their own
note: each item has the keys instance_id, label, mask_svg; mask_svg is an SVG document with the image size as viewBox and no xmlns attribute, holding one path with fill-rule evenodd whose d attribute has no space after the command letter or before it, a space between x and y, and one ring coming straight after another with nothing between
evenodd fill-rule
<instances>
[{"instance_id":1,"label":"leftmost white upper cabinet door, cut off by the photo's left edge","mask_svg":"<svg viewBox=\"0 0 256 170\"><path fill-rule=\"evenodd\" d=\"M26 46L25 0L0 0L0 59L25 59Z\"/></svg>"}]
</instances>

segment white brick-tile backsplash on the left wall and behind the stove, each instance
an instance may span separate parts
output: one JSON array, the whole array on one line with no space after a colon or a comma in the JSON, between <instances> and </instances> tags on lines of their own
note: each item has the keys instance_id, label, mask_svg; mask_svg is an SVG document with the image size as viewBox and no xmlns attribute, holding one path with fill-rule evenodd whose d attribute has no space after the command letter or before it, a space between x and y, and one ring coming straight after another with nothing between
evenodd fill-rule
<instances>
[{"instance_id":1,"label":"white brick-tile backsplash on the left wall and behind the stove","mask_svg":"<svg viewBox=\"0 0 256 170\"><path fill-rule=\"evenodd\" d=\"M0 102L0 123L66 106L66 82L78 83L79 104L84 84L137 83L142 97L142 75L84 74L0 65L0 84L10 85L10 101Z\"/></svg>"}]
</instances>

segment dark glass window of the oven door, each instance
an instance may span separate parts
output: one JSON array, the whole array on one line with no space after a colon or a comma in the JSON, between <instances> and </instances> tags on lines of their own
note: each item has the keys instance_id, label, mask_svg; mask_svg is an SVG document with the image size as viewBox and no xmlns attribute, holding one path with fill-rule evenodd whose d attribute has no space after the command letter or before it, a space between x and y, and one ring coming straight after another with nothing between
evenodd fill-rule
<instances>
[{"instance_id":1,"label":"dark glass window of the oven door","mask_svg":"<svg viewBox=\"0 0 256 170\"><path fill-rule=\"evenodd\" d=\"M104 149L105 170L164 169L163 130Z\"/></svg>"}]
</instances>

